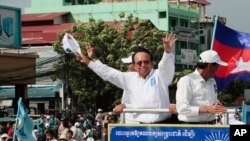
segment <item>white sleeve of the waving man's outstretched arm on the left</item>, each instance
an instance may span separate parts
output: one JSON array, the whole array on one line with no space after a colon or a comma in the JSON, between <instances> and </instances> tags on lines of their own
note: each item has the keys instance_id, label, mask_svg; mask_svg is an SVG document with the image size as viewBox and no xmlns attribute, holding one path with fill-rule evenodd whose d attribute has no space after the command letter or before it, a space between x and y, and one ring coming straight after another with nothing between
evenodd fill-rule
<instances>
[{"instance_id":1,"label":"white sleeve of the waving man's outstretched arm on the left","mask_svg":"<svg viewBox=\"0 0 250 141\"><path fill-rule=\"evenodd\" d=\"M105 65L99 60L95 62L90 61L88 67L98 76L100 76L104 81L109 81L117 87L124 89L123 72Z\"/></svg>"}]
</instances>

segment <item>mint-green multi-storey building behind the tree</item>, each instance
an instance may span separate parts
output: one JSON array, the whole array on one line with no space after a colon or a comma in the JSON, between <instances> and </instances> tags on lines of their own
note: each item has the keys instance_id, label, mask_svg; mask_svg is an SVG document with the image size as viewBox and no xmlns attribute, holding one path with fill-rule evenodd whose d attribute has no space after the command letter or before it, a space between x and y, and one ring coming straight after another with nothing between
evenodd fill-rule
<instances>
[{"instance_id":1,"label":"mint-green multi-storey building behind the tree","mask_svg":"<svg viewBox=\"0 0 250 141\"><path fill-rule=\"evenodd\" d=\"M198 2L187 3L179 0L43 0L31 1L31 7L24 14L69 12L68 22L86 23L89 18L103 21L122 21L133 14L139 19L150 20L162 31L173 31L178 35L175 47L177 69L194 66L200 48L200 13ZM202 3L203 4L203 3ZM206 5L204 3L203 5ZM202 5L202 6L203 6Z\"/></svg>"}]
</instances>

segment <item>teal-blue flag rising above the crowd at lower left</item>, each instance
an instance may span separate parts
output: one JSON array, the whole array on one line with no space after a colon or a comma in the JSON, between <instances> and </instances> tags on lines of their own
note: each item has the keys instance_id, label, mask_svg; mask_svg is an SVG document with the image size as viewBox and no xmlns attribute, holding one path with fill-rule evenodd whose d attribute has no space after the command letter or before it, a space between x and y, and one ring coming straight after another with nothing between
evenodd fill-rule
<instances>
[{"instance_id":1,"label":"teal-blue flag rising above the crowd at lower left","mask_svg":"<svg viewBox=\"0 0 250 141\"><path fill-rule=\"evenodd\" d=\"M34 122L27 114L22 98L19 98L14 136L16 135L22 141L35 141L36 139L32 136L33 128Z\"/></svg>"}]
</instances>

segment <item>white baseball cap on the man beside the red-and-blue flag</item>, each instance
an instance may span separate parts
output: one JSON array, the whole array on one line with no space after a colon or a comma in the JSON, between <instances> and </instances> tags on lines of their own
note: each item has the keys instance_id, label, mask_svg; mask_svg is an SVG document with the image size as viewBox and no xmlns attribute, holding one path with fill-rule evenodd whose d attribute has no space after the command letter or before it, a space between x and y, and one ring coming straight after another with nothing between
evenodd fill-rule
<instances>
[{"instance_id":1,"label":"white baseball cap on the man beside the red-and-blue flag","mask_svg":"<svg viewBox=\"0 0 250 141\"><path fill-rule=\"evenodd\" d=\"M207 50L200 54L199 62L202 63L217 63L221 66L228 66L226 62L221 61L218 53L214 50Z\"/></svg>"}]
</instances>

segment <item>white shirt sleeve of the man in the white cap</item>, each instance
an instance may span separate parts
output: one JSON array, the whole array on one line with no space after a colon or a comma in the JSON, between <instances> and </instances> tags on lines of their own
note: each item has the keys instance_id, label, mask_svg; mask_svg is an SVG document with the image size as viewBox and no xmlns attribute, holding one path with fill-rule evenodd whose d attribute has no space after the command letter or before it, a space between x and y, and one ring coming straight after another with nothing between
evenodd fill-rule
<instances>
[{"instance_id":1,"label":"white shirt sleeve of the man in the white cap","mask_svg":"<svg viewBox=\"0 0 250 141\"><path fill-rule=\"evenodd\" d=\"M179 114L186 116L196 116L199 114L198 106L191 106L192 86L188 77L182 77L177 83L176 109Z\"/></svg>"}]
</instances>

